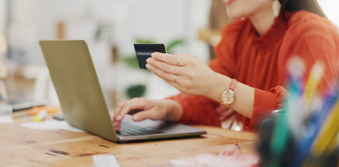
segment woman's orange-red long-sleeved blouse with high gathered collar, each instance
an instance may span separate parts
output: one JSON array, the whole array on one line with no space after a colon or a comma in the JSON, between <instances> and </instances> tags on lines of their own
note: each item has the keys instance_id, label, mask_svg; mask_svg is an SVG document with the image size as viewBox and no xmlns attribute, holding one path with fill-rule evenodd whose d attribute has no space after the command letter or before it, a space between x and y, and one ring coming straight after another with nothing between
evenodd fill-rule
<instances>
[{"instance_id":1,"label":"woman's orange-red long-sleeved blouse with high gathered collar","mask_svg":"<svg viewBox=\"0 0 339 167\"><path fill-rule=\"evenodd\" d=\"M331 84L339 69L339 30L328 19L304 10L287 13L285 20L277 17L259 37L250 19L236 20L225 26L214 52L216 58L209 63L213 71L255 88L252 118L240 116L243 129L253 130L263 119L271 117L271 111L282 107L290 56L303 59L306 74L315 61L322 60L326 69L320 86ZM218 102L183 93L169 99L183 106L179 122L220 127Z\"/></svg>"}]
</instances>

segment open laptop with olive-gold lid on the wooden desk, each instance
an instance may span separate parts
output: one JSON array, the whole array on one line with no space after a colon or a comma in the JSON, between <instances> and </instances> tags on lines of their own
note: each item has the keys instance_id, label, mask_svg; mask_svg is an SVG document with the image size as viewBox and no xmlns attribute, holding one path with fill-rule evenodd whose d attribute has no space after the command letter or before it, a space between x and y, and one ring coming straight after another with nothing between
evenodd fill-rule
<instances>
[{"instance_id":1,"label":"open laptop with olive-gold lid on the wooden desk","mask_svg":"<svg viewBox=\"0 0 339 167\"><path fill-rule=\"evenodd\" d=\"M135 122L128 115L116 132L86 42L41 40L40 47L68 124L114 142L206 134L203 129L164 120Z\"/></svg>"}]
</instances>

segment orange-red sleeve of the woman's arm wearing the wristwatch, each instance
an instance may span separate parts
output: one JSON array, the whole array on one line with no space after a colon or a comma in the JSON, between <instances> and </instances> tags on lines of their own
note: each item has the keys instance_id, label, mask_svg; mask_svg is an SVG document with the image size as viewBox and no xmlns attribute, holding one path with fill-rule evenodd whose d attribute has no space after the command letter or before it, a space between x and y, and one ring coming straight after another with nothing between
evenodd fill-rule
<instances>
[{"instance_id":1,"label":"orange-red sleeve of the woman's arm wearing the wristwatch","mask_svg":"<svg viewBox=\"0 0 339 167\"><path fill-rule=\"evenodd\" d=\"M291 56L300 56L306 66L303 79L306 80L312 65L316 61L322 61L325 73L319 91L324 93L339 74L339 31L323 17L306 15L308 13L300 12L289 19L290 27L279 51L278 72L287 79L287 61ZM285 95L287 90L282 86L271 88L269 92L255 89L253 116L251 119L246 118L246 127L255 128L261 120L271 116L271 111L281 109Z\"/></svg>"}]
</instances>

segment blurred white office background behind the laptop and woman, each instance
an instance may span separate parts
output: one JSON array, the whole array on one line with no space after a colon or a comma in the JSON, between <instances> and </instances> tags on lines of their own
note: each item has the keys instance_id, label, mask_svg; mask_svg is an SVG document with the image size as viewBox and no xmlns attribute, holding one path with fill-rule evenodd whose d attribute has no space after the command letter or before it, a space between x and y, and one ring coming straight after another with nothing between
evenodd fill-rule
<instances>
[{"instance_id":1,"label":"blurred white office background behind the laptop and woman","mask_svg":"<svg viewBox=\"0 0 339 167\"><path fill-rule=\"evenodd\" d=\"M339 24L339 1L318 0ZM112 108L131 97L160 99L179 93L136 66L133 44L165 43L171 53L191 53L206 63L229 22L222 0L0 0L0 60L9 97L59 100L39 40L86 40Z\"/></svg>"}]
</instances>

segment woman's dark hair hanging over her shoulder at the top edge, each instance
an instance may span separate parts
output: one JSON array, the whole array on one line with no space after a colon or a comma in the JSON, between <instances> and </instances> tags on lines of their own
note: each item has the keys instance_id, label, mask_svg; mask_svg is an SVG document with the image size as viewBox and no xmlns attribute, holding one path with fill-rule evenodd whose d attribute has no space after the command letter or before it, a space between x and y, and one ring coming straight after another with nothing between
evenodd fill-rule
<instances>
[{"instance_id":1,"label":"woman's dark hair hanging over her shoulder at the top edge","mask_svg":"<svg viewBox=\"0 0 339 167\"><path fill-rule=\"evenodd\" d=\"M317 0L279 0L281 4L280 16L285 18L285 11L294 12L307 10L319 16L326 17Z\"/></svg>"}]
</instances>

